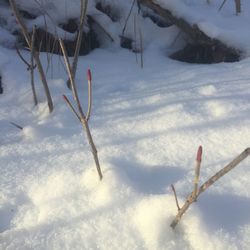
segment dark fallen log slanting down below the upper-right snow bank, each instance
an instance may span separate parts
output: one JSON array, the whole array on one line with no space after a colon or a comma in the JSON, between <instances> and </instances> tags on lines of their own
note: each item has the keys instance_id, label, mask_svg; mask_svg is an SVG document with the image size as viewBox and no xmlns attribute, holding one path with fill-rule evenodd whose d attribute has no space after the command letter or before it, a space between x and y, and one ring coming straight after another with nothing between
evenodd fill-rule
<instances>
[{"instance_id":1,"label":"dark fallen log slanting down below the upper-right snow bank","mask_svg":"<svg viewBox=\"0 0 250 250\"><path fill-rule=\"evenodd\" d=\"M175 16L171 10L163 8L153 0L138 0L166 20L170 20L191 42L183 50L170 55L170 58L186 62L213 63L238 61L241 51L226 45L223 41L211 38L205 34L196 24L190 24L187 20ZM197 49L198 48L198 49ZM191 56L189 55L189 51ZM206 57L209 57L206 59Z\"/></svg>"}]
</instances>

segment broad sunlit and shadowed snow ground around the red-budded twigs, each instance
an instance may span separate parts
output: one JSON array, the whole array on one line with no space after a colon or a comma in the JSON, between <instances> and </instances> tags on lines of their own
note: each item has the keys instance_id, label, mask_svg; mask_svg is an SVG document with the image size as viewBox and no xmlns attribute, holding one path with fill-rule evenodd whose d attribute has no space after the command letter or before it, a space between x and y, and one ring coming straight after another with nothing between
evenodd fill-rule
<instances>
[{"instance_id":1,"label":"broad sunlit and shadowed snow ground around the red-budded twigs","mask_svg":"<svg viewBox=\"0 0 250 250\"><path fill-rule=\"evenodd\" d=\"M229 7L221 12L225 19ZM177 31L167 30L171 44ZM55 106L49 114L38 73L34 107L26 65L0 47L0 249L249 249L250 157L201 194L175 230L170 186L182 205L193 190L199 145L200 184L250 146L250 59L190 65L168 59L163 42L148 37L143 69L135 54L117 46L79 61L84 110L87 69L93 75L89 125L102 181L85 132L62 98L73 102L62 58L53 55L46 72ZM41 60L47 69L45 53Z\"/></svg>"}]
</instances>

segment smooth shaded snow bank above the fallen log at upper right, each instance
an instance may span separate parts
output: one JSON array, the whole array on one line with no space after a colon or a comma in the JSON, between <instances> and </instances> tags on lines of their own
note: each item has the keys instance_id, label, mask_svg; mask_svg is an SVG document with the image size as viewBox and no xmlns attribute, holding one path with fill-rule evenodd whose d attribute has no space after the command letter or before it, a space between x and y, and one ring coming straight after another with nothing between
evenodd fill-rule
<instances>
[{"instance_id":1,"label":"smooth shaded snow bank above the fallen log at upper right","mask_svg":"<svg viewBox=\"0 0 250 250\"><path fill-rule=\"evenodd\" d=\"M250 54L250 2L241 0L242 13L236 15L235 1L154 0L190 24L196 24L211 38Z\"/></svg>"}]
</instances>

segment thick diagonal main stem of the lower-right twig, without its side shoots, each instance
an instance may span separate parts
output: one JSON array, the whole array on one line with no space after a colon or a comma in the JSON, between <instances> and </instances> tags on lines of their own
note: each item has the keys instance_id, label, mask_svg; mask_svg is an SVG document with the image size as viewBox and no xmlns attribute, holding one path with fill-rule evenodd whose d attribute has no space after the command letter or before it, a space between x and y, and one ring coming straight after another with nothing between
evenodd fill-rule
<instances>
[{"instance_id":1,"label":"thick diagonal main stem of the lower-right twig, without its side shoots","mask_svg":"<svg viewBox=\"0 0 250 250\"><path fill-rule=\"evenodd\" d=\"M238 155L234 160L232 160L228 165L218 171L215 175L210 177L200 188L197 190L196 196L193 195L193 192L186 199L185 204L181 207L174 220L170 226L174 229L176 225L180 222L182 215L187 211L189 206L198 198L198 196L206 191L212 184L219 180L222 176L227 174L230 170L236 167L240 162L246 159L250 155L250 148L245 149L240 155Z\"/></svg>"}]
</instances>

